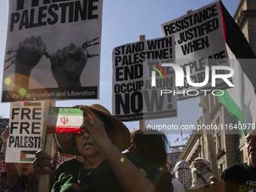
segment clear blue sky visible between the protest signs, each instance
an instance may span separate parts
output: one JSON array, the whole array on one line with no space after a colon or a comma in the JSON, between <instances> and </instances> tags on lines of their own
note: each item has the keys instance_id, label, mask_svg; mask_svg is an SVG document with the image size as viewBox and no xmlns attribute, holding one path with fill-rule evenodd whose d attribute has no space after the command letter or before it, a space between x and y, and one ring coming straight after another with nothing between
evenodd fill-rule
<instances>
[{"instance_id":1,"label":"clear blue sky visible between the protest signs","mask_svg":"<svg viewBox=\"0 0 256 192\"><path fill-rule=\"evenodd\" d=\"M11 1L11 0L9 0ZM12 0L14 1L14 0ZM27 0L28 1L28 0ZM111 111L111 66L112 50L122 44L139 41L140 35L146 39L163 37L160 23L165 23L177 17L181 17L189 10L197 10L212 0L108 0L103 2L102 18L102 47L100 67L100 89L98 100L69 100L56 102L57 107L72 107L73 105L90 105L99 103ZM224 6L230 15L236 11L239 0L223 0ZM8 1L0 1L0 74L3 73L5 56L5 43L8 23ZM0 90L2 90L2 78L0 78ZM1 93L0 93L1 95ZM199 107L200 99L188 99L178 102L178 117L149 120L148 124L174 124L174 125L195 125L202 116L202 109ZM10 104L0 103L0 115L8 118L10 115ZM138 129L139 121L125 123L130 129ZM183 138L189 135L183 135ZM169 145L181 145L181 136L168 134ZM174 143L179 138L180 142ZM184 145L185 142L183 142Z\"/></svg>"}]
</instances>

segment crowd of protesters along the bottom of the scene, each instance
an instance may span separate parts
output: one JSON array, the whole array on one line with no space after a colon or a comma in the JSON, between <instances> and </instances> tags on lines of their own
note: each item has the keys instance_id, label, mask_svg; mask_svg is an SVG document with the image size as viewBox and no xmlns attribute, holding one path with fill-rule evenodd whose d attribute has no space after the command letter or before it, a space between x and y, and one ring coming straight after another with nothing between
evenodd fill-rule
<instances>
[{"instance_id":1,"label":"crowd of protesters along the bottom of the scene","mask_svg":"<svg viewBox=\"0 0 256 192\"><path fill-rule=\"evenodd\" d=\"M57 133L53 157L38 151L33 163L6 163L1 191L38 191L41 174L50 174L52 192L66 191L256 191L256 132L246 136L247 163L230 166L221 181L209 160L179 161L172 169L168 140L157 130L132 130L102 105L76 105L84 111L80 134ZM6 147L10 128L2 133ZM70 160L56 164L58 147ZM123 152L122 152L123 151ZM50 162L53 160L53 162ZM44 169L45 167L49 169ZM20 170L21 174L20 174ZM255 188L255 189L254 189Z\"/></svg>"}]
</instances>

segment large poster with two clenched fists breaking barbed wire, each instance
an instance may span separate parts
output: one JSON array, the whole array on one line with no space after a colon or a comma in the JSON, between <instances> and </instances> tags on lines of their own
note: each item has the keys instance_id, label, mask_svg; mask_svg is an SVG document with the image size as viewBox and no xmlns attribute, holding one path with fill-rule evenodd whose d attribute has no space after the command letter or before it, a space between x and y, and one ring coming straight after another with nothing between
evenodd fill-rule
<instances>
[{"instance_id":1,"label":"large poster with two clenched fists breaking barbed wire","mask_svg":"<svg viewBox=\"0 0 256 192\"><path fill-rule=\"evenodd\" d=\"M99 99L102 4L10 0L2 102Z\"/></svg>"}]
</instances>

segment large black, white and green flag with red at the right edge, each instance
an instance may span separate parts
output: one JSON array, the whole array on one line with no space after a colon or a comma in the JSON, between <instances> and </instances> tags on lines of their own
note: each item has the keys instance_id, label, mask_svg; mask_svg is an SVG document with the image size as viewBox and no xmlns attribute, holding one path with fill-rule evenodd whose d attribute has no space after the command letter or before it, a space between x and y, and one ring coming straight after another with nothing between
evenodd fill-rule
<instances>
[{"instance_id":1,"label":"large black, white and green flag with red at the right edge","mask_svg":"<svg viewBox=\"0 0 256 192\"><path fill-rule=\"evenodd\" d=\"M256 60L239 26L222 2L220 6L230 67L235 72L232 78L235 87L224 90L224 95L218 99L239 123L246 123L247 128L242 130L245 141L248 126L256 123Z\"/></svg>"}]
</instances>

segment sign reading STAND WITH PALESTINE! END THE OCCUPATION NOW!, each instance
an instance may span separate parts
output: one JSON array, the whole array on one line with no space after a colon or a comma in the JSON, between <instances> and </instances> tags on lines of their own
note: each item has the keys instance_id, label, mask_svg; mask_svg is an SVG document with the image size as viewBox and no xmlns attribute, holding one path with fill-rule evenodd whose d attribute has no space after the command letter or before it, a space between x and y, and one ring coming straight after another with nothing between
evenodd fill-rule
<instances>
[{"instance_id":1,"label":"sign reading STAND WITH PALESTINE! END THE OCCUPATION NOW!","mask_svg":"<svg viewBox=\"0 0 256 192\"><path fill-rule=\"evenodd\" d=\"M122 121L177 116L175 76L162 63L175 61L174 37L137 41L112 52L112 114ZM163 74L163 75L162 75Z\"/></svg>"}]
</instances>

